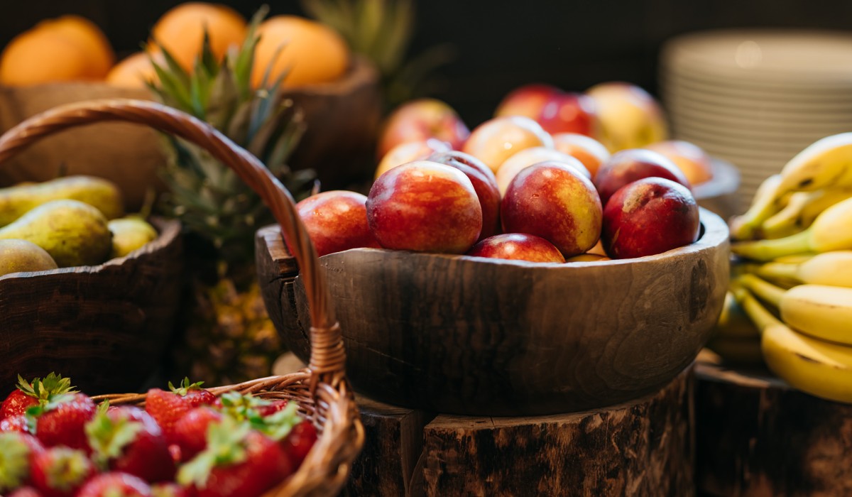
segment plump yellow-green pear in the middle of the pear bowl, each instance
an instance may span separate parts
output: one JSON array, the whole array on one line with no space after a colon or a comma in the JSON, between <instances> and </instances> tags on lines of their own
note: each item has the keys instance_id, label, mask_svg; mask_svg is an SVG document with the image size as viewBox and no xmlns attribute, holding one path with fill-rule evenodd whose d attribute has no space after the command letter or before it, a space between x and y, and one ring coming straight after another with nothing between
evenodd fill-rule
<instances>
[{"instance_id":1,"label":"plump yellow-green pear in the middle of the pear bowl","mask_svg":"<svg viewBox=\"0 0 852 497\"><path fill-rule=\"evenodd\" d=\"M79 200L53 200L0 228L0 240L20 239L42 247L60 268L107 260L112 233L107 217Z\"/></svg>"}]
</instances>

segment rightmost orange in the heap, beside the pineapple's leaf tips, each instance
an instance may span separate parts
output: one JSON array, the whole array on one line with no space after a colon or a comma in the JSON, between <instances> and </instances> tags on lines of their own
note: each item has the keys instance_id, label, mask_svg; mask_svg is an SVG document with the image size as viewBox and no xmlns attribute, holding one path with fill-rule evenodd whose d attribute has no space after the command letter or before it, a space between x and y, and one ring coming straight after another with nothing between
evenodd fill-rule
<instances>
[{"instance_id":1,"label":"rightmost orange in the heap, beside the pineapple's leaf tips","mask_svg":"<svg viewBox=\"0 0 852 497\"><path fill-rule=\"evenodd\" d=\"M257 43L251 84L261 85L263 74L272 65L269 81L288 71L282 87L296 87L335 81L349 66L349 49L330 27L296 15L277 15L257 29ZM281 50L276 58L276 52Z\"/></svg>"}]
</instances>

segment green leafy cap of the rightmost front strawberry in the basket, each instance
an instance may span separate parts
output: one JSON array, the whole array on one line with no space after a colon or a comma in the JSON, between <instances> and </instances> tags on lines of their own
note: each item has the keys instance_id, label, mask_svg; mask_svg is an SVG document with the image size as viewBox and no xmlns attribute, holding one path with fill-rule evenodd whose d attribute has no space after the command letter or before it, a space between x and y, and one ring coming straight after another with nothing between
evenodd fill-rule
<instances>
[{"instance_id":1,"label":"green leafy cap of the rightmost front strawberry in the basket","mask_svg":"<svg viewBox=\"0 0 852 497\"><path fill-rule=\"evenodd\" d=\"M181 465L177 472L177 483L204 488L210 471L216 466L237 465L245 461L248 458L245 438L250 431L248 423L227 416L221 421L210 423L207 426L207 448Z\"/></svg>"}]
</instances>

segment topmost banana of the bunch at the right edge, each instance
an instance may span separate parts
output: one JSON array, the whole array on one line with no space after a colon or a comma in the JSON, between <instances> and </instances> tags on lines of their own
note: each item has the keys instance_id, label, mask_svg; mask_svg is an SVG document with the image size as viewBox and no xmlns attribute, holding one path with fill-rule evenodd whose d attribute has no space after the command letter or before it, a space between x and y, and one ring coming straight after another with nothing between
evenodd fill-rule
<instances>
[{"instance_id":1,"label":"topmost banana of the bunch at the right edge","mask_svg":"<svg viewBox=\"0 0 852 497\"><path fill-rule=\"evenodd\" d=\"M826 136L796 154L781 169L778 194L852 187L852 133Z\"/></svg>"}]
</instances>

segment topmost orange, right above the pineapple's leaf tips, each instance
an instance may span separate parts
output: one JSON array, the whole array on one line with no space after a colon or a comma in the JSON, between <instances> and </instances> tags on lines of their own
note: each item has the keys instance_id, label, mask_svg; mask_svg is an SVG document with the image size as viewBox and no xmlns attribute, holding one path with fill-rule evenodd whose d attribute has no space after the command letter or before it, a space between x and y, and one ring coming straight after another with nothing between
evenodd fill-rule
<instances>
[{"instance_id":1,"label":"topmost orange, right above the pineapple's leaf tips","mask_svg":"<svg viewBox=\"0 0 852 497\"><path fill-rule=\"evenodd\" d=\"M205 28L210 36L210 49L222 59L228 49L243 44L248 26L242 15L225 5L181 3L154 24L148 51L156 51L159 43L184 69L192 71L195 58L201 53Z\"/></svg>"}]
</instances>

